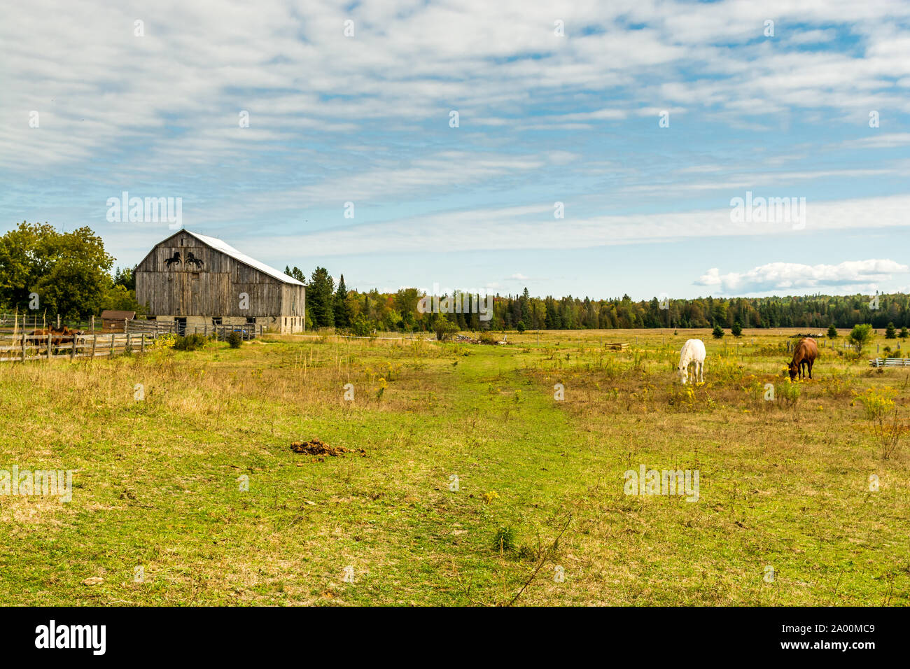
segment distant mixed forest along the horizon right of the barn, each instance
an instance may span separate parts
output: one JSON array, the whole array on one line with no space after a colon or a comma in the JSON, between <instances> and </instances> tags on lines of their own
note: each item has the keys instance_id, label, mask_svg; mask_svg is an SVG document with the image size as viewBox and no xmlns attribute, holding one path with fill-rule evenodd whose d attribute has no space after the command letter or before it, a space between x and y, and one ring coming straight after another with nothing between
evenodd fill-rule
<instances>
[{"instance_id":1,"label":"distant mixed forest along the horizon right of the barn","mask_svg":"<svg viewBox=\"0 0 910 669\"><path fill-rule=\"evenodd\" d=\"M307 327L383 330L432 330L440 314L420 313L418 289L395 293L377 290L349 290L344 276L336 287L329 271L317 268L307 278L298 268L285 269L288 275L307 284ZM465 304L469 299L465 297ZM664 307L664 309L662 309ZM465 309L468 310L468 309ZM463 330L480 329L619 329L619 328L852 328L871 323L885 328L910 327L910 296L895 295L812 295L772 298L657 298L633 301L622 298L589 299L531 297L521 295L493 298L492 318L480 320L479 313L444 315Z\"/></svg>"}]
</instances>

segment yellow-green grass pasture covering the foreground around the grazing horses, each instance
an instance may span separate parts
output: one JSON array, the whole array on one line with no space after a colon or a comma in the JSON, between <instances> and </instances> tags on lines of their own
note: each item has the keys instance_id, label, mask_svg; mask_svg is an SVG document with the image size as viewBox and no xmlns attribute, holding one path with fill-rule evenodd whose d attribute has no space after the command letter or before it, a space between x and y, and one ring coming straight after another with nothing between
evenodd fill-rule
<instances>
[{"instance_id":1,"label":"yellow-green grass pasture covering the foreground around the grazing horses","mask_svg":"<svg viewBox=\"0 0 910 669\"><path fill-rule=\"evenodd\" d=\"M815 379L790 384L787 334L271 336L4 363L0 469L76 472L72 502L0 495L0 597L907 605L910 368L865 361L899 340L856 359L841 332ZM696 387L675 374L689 337L708 348ZM603 347L616 341L631 346ZM888 389L897 423L876 428L856 397L886 407ZM290 448L313 438L366 453ZM623 472L641 465L699 471L699 500L625 494Z\"/></svg>"}]
</instances>

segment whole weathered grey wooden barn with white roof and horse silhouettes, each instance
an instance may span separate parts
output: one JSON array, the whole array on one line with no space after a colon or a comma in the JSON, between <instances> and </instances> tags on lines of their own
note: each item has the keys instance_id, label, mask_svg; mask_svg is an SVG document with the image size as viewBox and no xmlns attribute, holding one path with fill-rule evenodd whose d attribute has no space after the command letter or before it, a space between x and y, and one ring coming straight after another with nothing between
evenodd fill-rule
<instances>
[{"instance_id":1,"label":"whole weathered grey wooden barn with white roof and horse silhouettes","mask_svg":"<svg viewBox=\"0 0 910 669\"><path fill-rule=\"evenodd\" d=\"M178 328L264 325L304 329L307 289L214 237L180 230L158 243L136 267L136 300L149 319Z\"/></svg>"}]
</instances>

